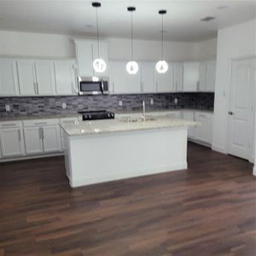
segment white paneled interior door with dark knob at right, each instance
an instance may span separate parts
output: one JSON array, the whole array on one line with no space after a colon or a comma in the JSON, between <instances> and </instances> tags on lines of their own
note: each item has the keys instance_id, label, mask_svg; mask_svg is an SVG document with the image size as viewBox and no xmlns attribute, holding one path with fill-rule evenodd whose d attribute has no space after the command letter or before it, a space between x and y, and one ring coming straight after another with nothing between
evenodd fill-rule
<instances>
[{"instance_id":1,"label":"white paneled interior door with dark knob at right","mask_svg":"<svg viewBox=\"0 0 256 256\"><path fill-rule=\"evenodd\" d=\"M256 60L231 65L228 153L249 159L253 150Z\"/></svg>"}]
</instances>

